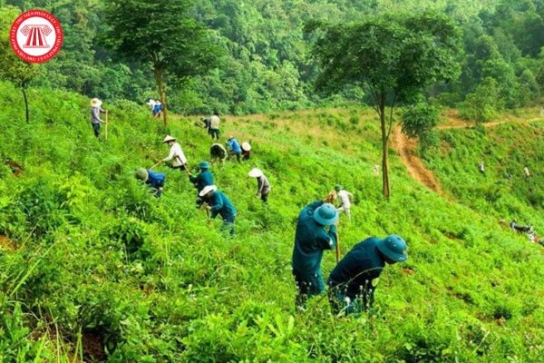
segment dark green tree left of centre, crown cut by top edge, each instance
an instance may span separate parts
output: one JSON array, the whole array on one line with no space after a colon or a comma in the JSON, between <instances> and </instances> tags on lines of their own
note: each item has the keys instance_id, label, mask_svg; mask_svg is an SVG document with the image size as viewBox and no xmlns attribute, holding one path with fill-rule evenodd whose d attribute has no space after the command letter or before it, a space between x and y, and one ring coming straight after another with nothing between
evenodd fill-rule
<instances>
[{"instance_id":1,"label":"dark green tree left of centre, crown cut by top edge","mask_svg":"<svg viewBox=\"0 0 544 363\"><path fill-rule=\"evenodd\" d=\"M165 76L175 82L206 73L219 48L207 29L189 16L189 0L113 0L106 8L111 26L104 43L121 57L151 64L168 123Z\"/></svg>"}]
</instances>

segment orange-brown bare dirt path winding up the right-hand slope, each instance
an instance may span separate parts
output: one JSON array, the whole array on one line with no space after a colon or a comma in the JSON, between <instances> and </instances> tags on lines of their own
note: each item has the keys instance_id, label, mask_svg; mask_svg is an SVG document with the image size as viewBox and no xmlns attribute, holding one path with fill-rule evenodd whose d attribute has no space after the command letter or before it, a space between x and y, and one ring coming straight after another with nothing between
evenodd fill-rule
<instances>
[{"instance_id":1,"label":"orange-brown bare dirt path winding up the right-hand slope","mask_svg":"<svg viewBox=\"0 0 544 363\"><path fill-rule=\"evenodd\" d=\"M448 114L446 116L446 119L448 120L448 123L439 125L439 130L469 128L474 126L475 124L459 120L456 113ZM493 127L502 123L531 123L540 120L542 120L542 117L533 118L530 120L502 120L492 123L483 123L483 126ZM403 161L403 164L406 166L408 174L410 174L410 176L417 182L421 182L426 188L430 189L431 191L435 191L442 196L446 196L440 187L440 182L438 182L434 174L429 169L425 168L422 160L417 156L417 142L413 139L409 139L405 134L403 134L400 125L395 126L395 128L393 129L392 142L393 148L398 152L399 157Z\"/></svg>"}]
</instances>

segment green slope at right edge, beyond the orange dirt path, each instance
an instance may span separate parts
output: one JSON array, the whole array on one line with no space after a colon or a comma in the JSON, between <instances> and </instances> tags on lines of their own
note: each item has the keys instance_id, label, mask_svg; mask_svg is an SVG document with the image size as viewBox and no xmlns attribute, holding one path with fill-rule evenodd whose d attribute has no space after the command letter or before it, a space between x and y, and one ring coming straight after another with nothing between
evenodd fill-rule
<instances>
[{"instance_id":1,"label":"green slope at right edge, beyond the orange dirt path","mask_svg":"<svg viewBox=\"0 0 544 363\"><path fill-rule=\"evenodd\" d=\"M537 115L537 110L532 114ZM516 119L489 128L477 125L440 131L439 144L425 156L442 186L463 204L497 219L518 218L520 223L540 225L544 208L542 118L532 118L529 123L516 123ZM475 175L481 161L486 165L485 175ZM531 173L528 179L525 166ZM512 175L510 180L507 173Z\"/></svg>"}]
</instances>

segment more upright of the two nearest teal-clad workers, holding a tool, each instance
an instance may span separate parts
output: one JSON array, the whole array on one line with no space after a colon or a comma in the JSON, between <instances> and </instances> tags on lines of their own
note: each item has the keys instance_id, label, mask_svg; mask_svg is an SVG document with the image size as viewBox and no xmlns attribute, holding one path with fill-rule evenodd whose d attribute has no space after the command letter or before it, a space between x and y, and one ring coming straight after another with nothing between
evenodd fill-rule
<instances>
[{"instance_id":1,"label":"more upright of the two nearest teal-clad workers, holding a tool","mask_svg":"<svg viewBox=\"0 0 544 363\"><path fill-rule=\"evenodd\" d=\"M335 206L324 201L314 201L306 205L298 215L292 260L298 290L297 309L304 309L309 297L325 290L321 260L324 250L332 250L336 246L337 221L338 212Z\"/></svg>"}]
</instances>

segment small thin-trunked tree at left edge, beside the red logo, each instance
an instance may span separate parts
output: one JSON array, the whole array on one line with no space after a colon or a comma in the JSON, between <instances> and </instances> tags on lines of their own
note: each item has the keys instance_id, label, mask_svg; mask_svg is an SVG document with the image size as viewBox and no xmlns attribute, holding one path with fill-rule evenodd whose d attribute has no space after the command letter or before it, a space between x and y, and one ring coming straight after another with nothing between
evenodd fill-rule
<instances>
[{"instance_id":1,"label":"small thin-trunked tree at left edge, beside the red logo","mask_svg":"<svg viewBox=\"0 0 544 363\"><path fill-rule=\"evenodd\" d=\"M9 44L9 29L20 11L12 6L0 8L0 79L15 83L21 87L24 98L26 123L30 122L26 89L40 74L38 64L30 64L20 59Z\"/></svg>"}]
</instances>

